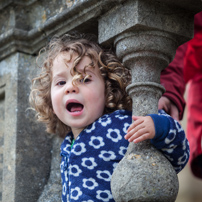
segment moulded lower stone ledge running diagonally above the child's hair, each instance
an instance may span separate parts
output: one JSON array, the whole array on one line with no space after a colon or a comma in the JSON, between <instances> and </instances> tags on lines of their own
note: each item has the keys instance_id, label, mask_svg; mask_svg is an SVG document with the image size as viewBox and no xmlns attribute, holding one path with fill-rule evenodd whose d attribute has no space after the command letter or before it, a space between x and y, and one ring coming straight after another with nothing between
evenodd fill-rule
<instances>
[{"instance_id":1,"label":"moulded lower stone ledge running diagonally above the child's hair","mask_svg":"<svg viewBox=\"0 0 202 202\"><path fill-rule=\"evenodd\" d=\"M0 35L0 60L17 51L36 54L55 33L62 35L78 29L97 34L97 18L123 1L78 1L31 30L19 29L14 25Z\"/></svg>"}]
</instances>

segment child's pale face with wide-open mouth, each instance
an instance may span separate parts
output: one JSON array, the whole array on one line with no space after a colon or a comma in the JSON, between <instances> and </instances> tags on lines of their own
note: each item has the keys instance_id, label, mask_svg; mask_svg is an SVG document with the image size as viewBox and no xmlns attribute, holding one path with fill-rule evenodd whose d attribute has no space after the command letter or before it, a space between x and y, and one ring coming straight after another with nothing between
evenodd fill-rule
<instances>
[{"instance_id":1,"label":"child's pale face with wide-open mouth","mask_svg":"<svg viewBox=\"0 0 202 202\"><path fill-rule=\"evenodd\" d=\"M99 68L87 68L86 74L91 77L83 83L72 84L71 69L75 55L70 62L68 52L60 53L53 61L51 100L54 113L71 130L76 138L89 124L102 116L105 108L105 84ZM82 71L91 63L85 56L77 65Z\"/></svg>"}]
</instances>

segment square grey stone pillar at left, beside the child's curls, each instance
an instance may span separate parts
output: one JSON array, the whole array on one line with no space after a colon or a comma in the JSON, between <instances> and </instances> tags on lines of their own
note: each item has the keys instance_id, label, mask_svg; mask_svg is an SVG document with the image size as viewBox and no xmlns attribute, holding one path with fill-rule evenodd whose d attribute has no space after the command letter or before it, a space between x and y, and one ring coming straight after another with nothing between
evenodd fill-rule
<instances>
[{"instance_id":1,"label":"square grey stone pillar at left, beside the child's curls","mask_svg":"<svg viewBox=\"0 0 202 202\"><path fill-rule=\"evenodd\" d=\"M47 183L51 138L28 110L35 58L16 53L0 62L5 81L2 201L36 201Z\"/></svg>"}]
</instances>

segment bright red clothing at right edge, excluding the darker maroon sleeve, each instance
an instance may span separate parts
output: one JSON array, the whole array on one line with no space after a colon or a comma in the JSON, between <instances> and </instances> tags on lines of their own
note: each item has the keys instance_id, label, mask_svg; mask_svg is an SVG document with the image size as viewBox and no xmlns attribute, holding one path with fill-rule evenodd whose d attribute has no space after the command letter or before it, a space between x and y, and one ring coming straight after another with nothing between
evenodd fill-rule
<instances>
[{"instance_id":1,"label":"bright red clothing at right edge, excluding the darker maroon sleeve","mask_svg":"<svg viewBox=\"0 0 202 202\"><path fill-rule=\"evenodd\" d=\"M202 14L202 12L200 13ZM189 82L187 99L187 138L193 174L202 178L202 15L194 38L188 42L184 58L184 79ZM198 18L197 18L198 19Z\"/></svg>"}]
</instances>

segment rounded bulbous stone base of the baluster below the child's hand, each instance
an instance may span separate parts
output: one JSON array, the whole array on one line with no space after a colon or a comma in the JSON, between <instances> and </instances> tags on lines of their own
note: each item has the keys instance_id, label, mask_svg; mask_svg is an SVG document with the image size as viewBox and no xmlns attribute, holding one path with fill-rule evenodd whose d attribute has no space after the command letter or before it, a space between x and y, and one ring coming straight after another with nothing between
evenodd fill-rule
<instances>
[{"instance_id":1,"label":"rounded bulbous stone base of the baluster below the child's hand","mask_svg":"<svg viewBox=\"0 0 202 202\"><path fill-rule=\"evenodd\" d=\"M111 180L116 202L175 201L178 186L177 175L171 164L149 141L135 147L130 143Z\"/></svg>"}]
</instances>

